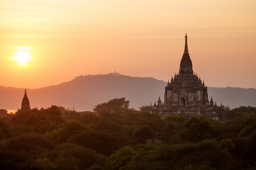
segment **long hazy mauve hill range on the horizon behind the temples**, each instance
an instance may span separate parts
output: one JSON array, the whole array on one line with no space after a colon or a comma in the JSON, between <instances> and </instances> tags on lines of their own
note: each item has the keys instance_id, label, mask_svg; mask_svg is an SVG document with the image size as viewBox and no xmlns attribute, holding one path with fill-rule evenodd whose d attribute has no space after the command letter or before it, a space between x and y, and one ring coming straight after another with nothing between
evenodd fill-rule
<instances>
[{"instance_id":1,"label":"long hazy mauve hill range on the horizon behind the temples","mask_svg":"<svg viewBox=\"0 0 256 170\"><path fill-rule=\"evenodd\" d=\"M95 105L114 98L126 97L130 108L138 109L143 105L154 104L160 95L164 96L166 82L154 78L140 78L118 73L107 75L77 76L75 79L38 89L27 89L31 108L47 108L60 105L77 111L92 111ZM0 87L0 109L18 109L24 95L23 88ZM216 88L208 87L209 100L230 108L250 105L256 107L254 88Z\"/></svg>"}]
</instances>

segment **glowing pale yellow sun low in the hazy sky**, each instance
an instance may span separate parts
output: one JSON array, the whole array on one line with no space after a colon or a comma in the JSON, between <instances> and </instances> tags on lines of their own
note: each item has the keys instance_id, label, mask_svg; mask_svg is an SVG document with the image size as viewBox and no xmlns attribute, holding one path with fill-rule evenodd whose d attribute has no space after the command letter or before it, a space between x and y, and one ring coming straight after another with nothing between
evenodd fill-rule
<instances>
[{"instance_id":1,"label":"glowing pale yellow sun low in the hazy sky","mask_svg":"<svg viewBox=\"0 0 256 170\"><path fill-rule=\"evenodd\" d=\"M31 50L32 47L30 46L16 46L14 56L11 59L17 62L19 66L27 66L28 62L33 59Z\"/></svg>"}]
</instances>

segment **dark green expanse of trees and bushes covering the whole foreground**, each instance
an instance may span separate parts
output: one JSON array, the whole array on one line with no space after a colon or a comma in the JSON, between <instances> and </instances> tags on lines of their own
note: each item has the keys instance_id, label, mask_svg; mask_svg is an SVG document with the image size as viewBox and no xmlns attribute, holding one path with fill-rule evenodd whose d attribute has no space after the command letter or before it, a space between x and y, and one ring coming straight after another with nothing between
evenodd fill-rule
<instances>
[{"instance_id":1,"label":"dark green expanse of trees and bushes covering the whole foreground","mask_svg":"<svg viewBox=\"0 0 256 170\"><path fill-rule=\"evenodd\" d=\"M125 98L93 112L52 105L0 111L1 169L255 169L256 108L229 120L129 108Z\"/></svg>"}]
</instances>

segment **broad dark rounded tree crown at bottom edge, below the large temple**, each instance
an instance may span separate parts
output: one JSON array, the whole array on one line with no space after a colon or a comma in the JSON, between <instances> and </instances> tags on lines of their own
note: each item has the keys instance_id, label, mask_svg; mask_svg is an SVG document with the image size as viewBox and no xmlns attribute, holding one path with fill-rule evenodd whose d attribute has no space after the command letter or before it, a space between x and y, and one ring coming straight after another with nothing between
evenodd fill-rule
<instances>
[{"instance_id":1,"label":"broad dark rounded tree crown at bottom edge, below the large temple","mask_svg":"<svg viewBox=\"0 0 256 170\"><path fill-rule=\"evenodd\" d=\"M214 139L197 143L161 145L156 147L148 165L162 169L236 169L236 162ZM151 168L154 169L154 168Z\"/></svg>"}]
</instances>

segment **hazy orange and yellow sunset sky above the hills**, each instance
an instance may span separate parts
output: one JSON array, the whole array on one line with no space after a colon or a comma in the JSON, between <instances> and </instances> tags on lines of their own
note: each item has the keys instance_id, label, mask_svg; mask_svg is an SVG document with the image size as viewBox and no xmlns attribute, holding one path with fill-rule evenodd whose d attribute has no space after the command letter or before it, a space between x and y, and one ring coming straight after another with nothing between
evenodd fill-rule
<instances>
[{"instance_id":1,"label":"hazy orange and yellow sunset sky above the hills","mask_svg":"<svg viewBox=\"0 0 256 170\"><path fill-rule=\"evenodd\" d=\"M255 0L3 0L0 19L1 86L114 71L167 82L179 72L187 29L206 86L256 88Z\"/></svg>"}]
</instances>

